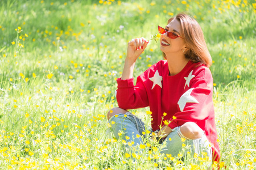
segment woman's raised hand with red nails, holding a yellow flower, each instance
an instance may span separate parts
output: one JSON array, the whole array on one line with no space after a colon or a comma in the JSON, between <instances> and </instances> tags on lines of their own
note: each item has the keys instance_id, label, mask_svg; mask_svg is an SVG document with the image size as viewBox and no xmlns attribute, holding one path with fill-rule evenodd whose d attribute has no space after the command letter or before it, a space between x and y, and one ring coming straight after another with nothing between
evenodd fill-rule
<instances>
[{"instance_id":1,"label":"woman's raised hand with red nails, holding a yellow flower","mask_svg":"<svg viewBox=\"0 0 256 170\"><path fill-rule=\"evenodd\" d=\"M148 41L143 37L131 40L130 42L128 42L126 58L135 62L144 51L144 49L147 47L147 44Z\"/></svg>"}]
</instances>

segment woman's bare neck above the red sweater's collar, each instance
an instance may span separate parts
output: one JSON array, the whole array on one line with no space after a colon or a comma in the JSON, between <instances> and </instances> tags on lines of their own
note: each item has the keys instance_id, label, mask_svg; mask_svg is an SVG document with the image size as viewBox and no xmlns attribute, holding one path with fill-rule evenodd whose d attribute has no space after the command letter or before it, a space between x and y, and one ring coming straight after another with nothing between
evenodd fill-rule
<instances>
[{"instance_id":1,"label":"woman's bare neck above the red sweater's collar","mask_svg":"<svg viewBox=\"0 0 256 170\"><path fill-rule=\"evenodd\" d=\"M184 67L187 65L189 59L183 57L167 57L167 63L168 63L168 69L170 75L176 75L180 73L181 70L184 69Z\"/></svg>"}]
</instances>

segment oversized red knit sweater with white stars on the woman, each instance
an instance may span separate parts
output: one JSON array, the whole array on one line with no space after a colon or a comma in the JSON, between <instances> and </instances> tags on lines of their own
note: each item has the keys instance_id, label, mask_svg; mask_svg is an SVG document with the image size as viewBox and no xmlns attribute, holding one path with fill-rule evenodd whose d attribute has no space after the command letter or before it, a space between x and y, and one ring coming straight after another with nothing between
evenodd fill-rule
<instances>
[{"instance_id":1,"label":"oversized red knit sweater with white stars on the woman","mask_svg":"<svg viewBox=\"0 0 256 170\"><path fill-rule=\"evenodd\" d=\"M220 159L212 100L213 78L208 67L189 61L180 73L170 76L167 61L161 60L139 75L135 86L133 78L119 78L117 84L120 108L149 106L153 131L164 126L165 120L169 120L171 129L195 122L213 144L213 160Z\"/></svg>"}]
</instances>

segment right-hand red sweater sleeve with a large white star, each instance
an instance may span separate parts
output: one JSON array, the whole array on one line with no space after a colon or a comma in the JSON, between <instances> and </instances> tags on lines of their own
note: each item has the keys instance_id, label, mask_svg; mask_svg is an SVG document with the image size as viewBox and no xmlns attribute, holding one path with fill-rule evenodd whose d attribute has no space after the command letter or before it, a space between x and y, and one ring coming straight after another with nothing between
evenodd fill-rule
<instances>
[{"instance_id":1,"label":"right-hand red sweater sleeve with a large white star","mask_svg":"<svg viewBox=\"0 0 256 170\"><path fill-rule=\"evenodd\" d=\"M185 122L195 122L201 129L205 130L205 120L214 116L212 102L212 75L200 71L198 75L191 80L187 91L181 95L177 107L179 112L174 114L168 125L171 129L181 126ZM213 115L211 115L213 114Z\"/></svg>"}]
</instances>

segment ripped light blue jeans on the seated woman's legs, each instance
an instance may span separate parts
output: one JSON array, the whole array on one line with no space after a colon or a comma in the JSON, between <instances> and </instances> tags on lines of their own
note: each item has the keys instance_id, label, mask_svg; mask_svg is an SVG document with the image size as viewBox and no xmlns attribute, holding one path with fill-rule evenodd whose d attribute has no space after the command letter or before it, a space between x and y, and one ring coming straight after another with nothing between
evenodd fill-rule
<instances>
[{"instance_id":1,"label":"ripped light blue jeans on the seated woman's legs","mask_svg":"<svg viewBox=\"0 0 256 170\"><path fill-rule=\"evenodd\" d=\"M141 136L143 136L143 131L145 131L145 125L138 117L134 116L130 112L126 114L115 114L115 116L109 119L109 124L112 126L110 130L114 134L114 137L119 139L125 140L128 142L134 142L134 146L143 144ZM199 139L193 140L185 140L184 142L181 141L181 137L177 133L180 127L176 127L172 130L166 139L161 145L165 145L162 150L160 151L163 154L171 154L172 157L178 156L183 148L183 144L189 147L189 152L191 152L192 156L196 153L197 156L201 158L207 155L209 160L212 160L212 149L210 148L210 143L203 133L203 137ZM203 130L202 130L203 131ZM151 131L152 132L152 131ZM119 134L118 134L119 133ZM120 134L122 133L122 135ZM129 137L129 138L127 138ZM171 138L171 140L170 140ZM202 155L204 152L204 156ZM184 154L186 154L185 152Z\"/></svg>"}]
</instances>

